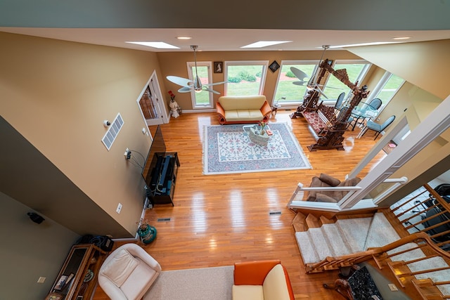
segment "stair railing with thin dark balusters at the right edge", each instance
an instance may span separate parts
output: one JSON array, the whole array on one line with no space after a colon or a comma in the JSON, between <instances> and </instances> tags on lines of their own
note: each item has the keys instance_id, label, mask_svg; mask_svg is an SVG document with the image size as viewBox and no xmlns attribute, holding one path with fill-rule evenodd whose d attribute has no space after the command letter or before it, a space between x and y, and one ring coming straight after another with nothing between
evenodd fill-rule
<instances>
[{"instance_id":1,"label":"stair railing with thin dark balusters at the right edge","mask_svg":"<svg viewBox=\"0 0 450 300\"><path fill-rule=\"evenodd\" d=\"M428 233L438 247L450 251L450 204L430 185L423 187L422 193L401 202L391 212L409 232ZM429 197L420 197L427 194Z\"/></svg>"}]
</instances>

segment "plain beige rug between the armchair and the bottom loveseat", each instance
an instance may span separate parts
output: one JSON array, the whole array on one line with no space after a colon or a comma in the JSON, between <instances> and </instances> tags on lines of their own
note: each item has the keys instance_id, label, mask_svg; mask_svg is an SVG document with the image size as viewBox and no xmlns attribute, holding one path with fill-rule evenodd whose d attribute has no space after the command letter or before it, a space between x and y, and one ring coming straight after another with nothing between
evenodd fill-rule
<instances>
[{"instance_id":1,"label":"plain beige rug between the armchair and the bottom loveseat","mask_svg":"<svg viewBox=\"0 0 450 300\"><path fill-rule=\"evenodd\" d=\"M233 266L162 271L143 300L229 300Z\"/></svg>"}]
</instances>

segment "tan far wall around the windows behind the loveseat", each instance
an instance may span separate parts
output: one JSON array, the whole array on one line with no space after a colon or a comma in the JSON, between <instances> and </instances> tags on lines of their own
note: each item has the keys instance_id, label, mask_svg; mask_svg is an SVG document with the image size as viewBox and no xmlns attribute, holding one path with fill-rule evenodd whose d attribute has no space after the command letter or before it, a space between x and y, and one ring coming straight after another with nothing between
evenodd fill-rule
<instances>
[{"instance_id":1,"label":"tan far wall around the windows behind the loveseat","mask_svg":"<svg viewBox=\"0 0 450 300\"><path fill-rule=\"evenodd\" d=\"M269 65L276 60L280 65L282 60L319 60L323 51L228 51L228 52L197 52L197 61L221 61L226 60L269 60ZM336 59L360 59L348 51L326 51L326 57L330 60ZM184 110L192 109L191 93L178 93L176 92L180 86L168 81L165 77L169 75L188 78L188 69L186 62L193 62L193 52L167 52L158 53L158 60L161 65L161 72L164 77L165 86L167 91L171 90L176 93L176 102L183 107ZM276 81L278 79L278 73L267 70L266 82L264 85L264 95L269 103L274 98L274 92L276 87ZM224 81L224 73L213 73L213 82ZM214 94L214 103L217 102L220 96L224 95L224 86L214 86L214 90L221 93L221 95ZM162 91L165 99L169 99L167 91ZM167 96L166 96L167 95ZM170 99L169 99L170 100Z\"/></svg>"}]
</instances>

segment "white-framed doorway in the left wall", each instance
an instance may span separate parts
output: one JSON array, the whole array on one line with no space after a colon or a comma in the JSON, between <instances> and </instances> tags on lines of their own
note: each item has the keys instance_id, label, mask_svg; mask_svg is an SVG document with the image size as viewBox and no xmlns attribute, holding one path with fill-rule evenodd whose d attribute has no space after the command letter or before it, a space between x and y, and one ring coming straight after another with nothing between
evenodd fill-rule
<instances>
[{"instance_id":1,"label":"white-framed doorway in the left wall","mask_svg":"<svg viewBox=\"0 0 450 300\"><path fill-rule=\"evenodd\" d=\"M160 105L162 105L162 100L157 96L153 79L150 79L141 99L139 99L139 106L148 126L162 124L163 117Z\"/></svg>"}]
</instances>

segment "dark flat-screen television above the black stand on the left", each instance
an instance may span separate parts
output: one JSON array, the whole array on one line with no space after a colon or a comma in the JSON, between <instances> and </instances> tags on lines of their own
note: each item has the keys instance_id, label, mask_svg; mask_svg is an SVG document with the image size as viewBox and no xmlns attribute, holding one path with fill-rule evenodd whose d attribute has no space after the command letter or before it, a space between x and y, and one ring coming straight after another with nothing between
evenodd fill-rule
<instances>
[{"instance_id":1,"label":"dark flat-screen television above the black stand on the left","mask_svg":"<svg viewBox=\"0 0 450 300\"><path fill-rule=\"evenodd\" d=\"M148 188L155 186L158 181L159 174L155 174L155 171L159 169L157 168L158 155L155 154L165 152L166 145L164 143L164 138L162 138L160 126L158 125L155 135L153 136L152 144L150 145L150 150L148 150L146 162L142 169L142 177Z\"/></svg>"}]
</instances>

